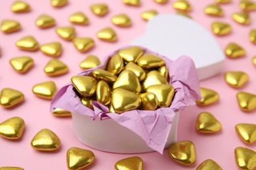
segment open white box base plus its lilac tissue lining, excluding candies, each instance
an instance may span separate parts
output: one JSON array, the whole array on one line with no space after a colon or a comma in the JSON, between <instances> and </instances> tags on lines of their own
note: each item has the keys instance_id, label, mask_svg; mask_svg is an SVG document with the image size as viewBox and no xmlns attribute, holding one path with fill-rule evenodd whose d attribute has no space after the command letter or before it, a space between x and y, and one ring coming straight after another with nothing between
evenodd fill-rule
<instances>
[{"instance_id":1,"label":"open white box base plus its lilac tissue lining, excluding candies","mask_svg":"<svg viewBox=\"0 0 256 170\"><path fill-rule=\"evenodd\" d=\"M95 69L106 69L108 61L120 48L104 58L102 64L79 73L91 76ZM122 114L109 112L108 107L93 101L93 109L81 103L71 82L62 87L53 98L51 112L64 109L72 112L74 133L81 141L97 150L114 153L142 153L158 151L177 141L179 110L194 105L201 98L196 67L191 58L181 56L171 61L165 56L142 48L144 54L153 54L165 61L169 72L168 83L175 89L170 107L156 110L129 110ZM188 114L188 113L184 113Z\"/></svg>"}]
</instances>

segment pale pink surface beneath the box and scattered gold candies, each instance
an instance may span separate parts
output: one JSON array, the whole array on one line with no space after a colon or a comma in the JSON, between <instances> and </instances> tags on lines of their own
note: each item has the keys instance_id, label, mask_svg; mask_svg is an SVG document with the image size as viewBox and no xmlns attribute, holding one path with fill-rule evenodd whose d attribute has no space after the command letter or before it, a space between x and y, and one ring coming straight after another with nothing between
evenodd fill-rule
<instances>
[{"instance_id":1,"label":"pale pink surface beneath the box and scattered gold candies","mask_svg":"<svg viewBox=\"0 0 256 170\"><path fill-rule=\"evenodd\" d=\"M50 5L50 1L28 1L32 7L32 12L26 14L14 14L10 7L14 1L0 1L0 21L3 19L18 20L22 25L22 30L17 33L5 35L0 32L0 46L2 56L0 58L0 90L3 88L14 88L24 93L26 100L22 105L14 109L0 108L0 122L8 118L19 116L26 122L26 128L20 140L10 141L0 138L0 167L1 166L17 166L24 169L66 169L66 152L70 147L79 147L92 150L95 153L95 162L87 167L87 169L114 169L114 163L127 158L129 156L140 156L144 161L144 169L196 169L196 167L207 159L213 159L223 167L223 169L238 169L234 159L234 149L238 146L244 146L256 150L256 144L244 144L236 134L234 127L238 123L256 123L256 112L242 112L236 101L236 93L240 91L256 93L256 67L253 66L251 58L256 55L256 46L249 42L249 31L256 28L255 18L256 12L251 12L250 25L238 25L232 19L232 12L238 12L239 1L233 1L232 4L222 5L224 9L223 18L214 18L206 16L203 13L203 8L213 0L205 1L190 1L193 10L190 13L192 18L203 27L211 28L211 22L215 20L228 22L232 25L232 33L225 37L217 37L217 41L224 49L229 42L237 42L244 46L247 50L245 58L241 59L226 59L224 62L223 73L225 71L244 71L250 78L246 86L240 90L230 88L224 81L223 73L208 80L203 80L200 84L202 87L216 90L220 94L220 101L209 107L190 107L185 112L181 112L179 120L178 141L190 140L196 145L196 163L190 167L184 167L179 163L169 158L167 150L163 155L158 152L147 154L112 154L101 152L93 148L85 146L77 140L72 129L71 118L58 118L49 112L50 101L40 99L33 95L32 87L39 82L53 80L56 86L61 88L68 82L72 75L76 75L81 71L79 63L87 54L94 54L100 59L106 54L116 50L121 46L129 44L136 37L144 33L146 22L140 18L140 13L144 10L156 9L160 14L174 14L175 10L171 7L173 1L165 5L158 5L154 1L143 0L141 7L127 7L120 1L71 1L62 9L54 9ZM90 10L89 6L93 3L106 3L109 6L110 12L99 18ZM75 26L77 37L92 37L95 39L95 48L86 54L78 52L72 42L63 41L56 35L54 29L58 26L72 25L68 22L68 16L74 12L84 12L90 20L87 26ZM114 14L125 12L131 17L133 26L129 28L119 28L112 25L110 18ZM56 20L56 26L49 29L39 29L35 26L35 19L40 14L49 14ZM115 43L102 42L96 39L96 32L106 26L114 28L117 32L118 41ZM58 77L49 77L43 72L43 67L51 59L48 56L38 52L21 51L15 46L18 39L26 35L33 35L39 44L58 41L62 43L64 48L60 60L66 63L70 69L66 75ZM207 45L207 44L205 44ZM171 47L170 47L171 48ZM203 48L203 47L202 47ZM9 59L18 56L31 56L35 65L31 71L25 75L16 73ZM202 111L211 112L223 125L223 130L220 133L213 135L199 134L195 130L195 121L198 114ZM33 150L30 146L30 141L33 136L41 129L49 128L62 142L62 146L56 152L39 152Z\"/></svg>"}]
</instances>

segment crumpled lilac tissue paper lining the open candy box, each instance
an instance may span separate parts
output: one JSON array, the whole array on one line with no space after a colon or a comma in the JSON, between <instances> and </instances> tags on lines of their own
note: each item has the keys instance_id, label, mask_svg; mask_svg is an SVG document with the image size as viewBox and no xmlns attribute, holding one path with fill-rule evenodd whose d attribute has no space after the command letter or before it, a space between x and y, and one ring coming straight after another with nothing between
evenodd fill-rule
<instances>
[{"instance_id":1,"label":"crumpled lilac tissue paper lining the open candy box","mask_svg":"<svg viewBox=\"0 0 256 170\"><path fill-rule=\"evenodd\" d=\"M150 148L162 154L171 130L175 111L184 110L188 105L195 105L195 101L201 99L198 73L194 61L189 57L181 56L175 61L171 61L167 57L152 52L147 48L141 48L144 50L144 54L154 54L165 61L169 71L169 84L175 88L175 96L170 107L162 107L157 110L130 110L122 114L113 114L109 113L108 107L93 101L93 111L81 103L73 90L74 86L69 82L54 96L51 102L51 112L56 108L60 108L73 113L91 116L92 121L97 117L102 121L112 118L120 126L125 126L137 133ZM106 69L109 59L121 49L123 48L106 56L98 67L88 69L78 75L91 76L95 69Z\"/></svg>"}]
</instances>

